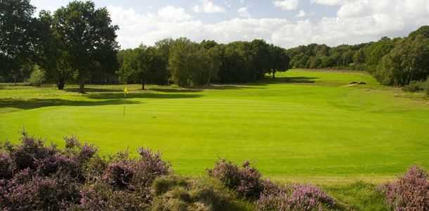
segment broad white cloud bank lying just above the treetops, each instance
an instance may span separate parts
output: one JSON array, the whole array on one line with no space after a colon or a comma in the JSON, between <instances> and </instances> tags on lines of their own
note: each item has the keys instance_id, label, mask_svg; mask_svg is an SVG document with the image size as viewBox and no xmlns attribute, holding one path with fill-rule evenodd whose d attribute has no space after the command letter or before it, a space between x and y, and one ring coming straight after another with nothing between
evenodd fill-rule
<instances>
[{"instance_id":1,"label":"broad white cloud bank lying just above the treetops","mask_svg":"<svg viewBox=\"0 0 429 211\"><path fill-rule=\"evenodd\" d=\"M340 6L336 17L298 21L243 17L203 23L183 8L161 8L158 13L146 14L114 6L108 9L120 26L118 41L124 47L136 47L142 41L154 44L167 37L221 43L260 38L283 47L314 42L336 46L406 36L429 23L428 0L354 0Z\"/></svg>"}]
</instances>

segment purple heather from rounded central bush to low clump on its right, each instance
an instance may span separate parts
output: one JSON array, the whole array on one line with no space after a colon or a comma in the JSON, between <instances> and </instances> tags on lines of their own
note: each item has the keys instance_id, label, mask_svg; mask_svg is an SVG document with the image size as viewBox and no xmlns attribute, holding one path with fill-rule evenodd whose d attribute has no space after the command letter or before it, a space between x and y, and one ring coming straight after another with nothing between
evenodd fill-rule
<instances>
[{"instance_id":1,"label":"purple heather from rounded central bush to low clump on its right","mask_svg":"<svg viewBox=\"0 0 429 211\"><path fill-rule=\"evenodd\" d=\"M330 210L334 208L333 198L312 185L290 184L278 186L262 179L262 174L244 162L241 167L221 159L214 168L207 170L210 177L221 181L238 196L255 202L260 211L287 210Z\"/></svg>"}]
</instances>

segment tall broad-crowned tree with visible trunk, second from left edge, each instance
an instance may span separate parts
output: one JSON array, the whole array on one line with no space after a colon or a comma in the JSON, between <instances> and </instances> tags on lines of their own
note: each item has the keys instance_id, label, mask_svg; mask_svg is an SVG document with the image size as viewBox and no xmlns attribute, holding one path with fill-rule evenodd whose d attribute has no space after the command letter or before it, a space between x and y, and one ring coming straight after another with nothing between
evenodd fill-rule
<instances>
[{"instance_id":1,"label":"tall broad-crowned tree with visible trunk, second from left edge","mask_svg":"<svg viewBox=\"0 0 429 211\"><path fill-rule=\"evenodd\" d=\"M116 56L119 27L112 25L106 8L96 9L91 1L72 1L53 17L55 30L69 53L69 63L77 73L79 91L84 93L91 72L102 69Z\"/></svg>"}]
</instances>

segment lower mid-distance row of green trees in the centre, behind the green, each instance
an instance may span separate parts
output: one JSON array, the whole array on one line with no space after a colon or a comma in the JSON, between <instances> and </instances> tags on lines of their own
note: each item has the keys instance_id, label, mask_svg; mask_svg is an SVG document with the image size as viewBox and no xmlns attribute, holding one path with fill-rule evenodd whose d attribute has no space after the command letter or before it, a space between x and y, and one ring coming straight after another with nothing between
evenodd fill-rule
<instances>
[{"instance_id":1,"label":"lower mid-distance row of green trees in the centre, behind the green","mask_svg":"<svg viewBox=\"0 0 429 211\"><path fill-rule=\"evenodd\" d=\"M122 83L170 84L181 87L217 83L244 83L267 73L288 70L286 50L255 39L217 44L186 38L163 39L155 46L141 45L118 53Z\"/></svg>"}]
</instances>

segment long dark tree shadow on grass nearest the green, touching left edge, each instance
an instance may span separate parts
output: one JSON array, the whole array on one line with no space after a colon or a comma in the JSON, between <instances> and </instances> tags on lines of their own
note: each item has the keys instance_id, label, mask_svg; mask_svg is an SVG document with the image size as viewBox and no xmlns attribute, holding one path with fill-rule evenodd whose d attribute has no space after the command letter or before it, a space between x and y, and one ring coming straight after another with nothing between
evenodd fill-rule
<instances>
[{"instance_id":1,"label":"long dark tree shadow on grass nearest the green, touching left edge","mask_svg":"<svg viewBox=\"0 0 429 211\"><path fill-rule=\"evenodd\" d=\"M44 108L49 106L110 106L122 104L139 104L140 102L127 101L127 100L109 100L109 101L68 101L58 98L53 99L0 99L0 108L18 108L30 110L34 108Z\"/></svg>"}]
</instances>

